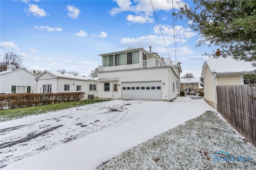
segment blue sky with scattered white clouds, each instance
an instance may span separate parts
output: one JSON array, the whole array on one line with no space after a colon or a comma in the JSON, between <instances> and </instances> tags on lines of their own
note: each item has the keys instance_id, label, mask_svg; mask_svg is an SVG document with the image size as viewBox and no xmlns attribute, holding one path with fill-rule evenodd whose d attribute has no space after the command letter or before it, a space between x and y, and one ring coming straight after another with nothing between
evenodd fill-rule
<instances>
[{"instance_id":1,"label":"blue sky with scattered white clouds","mask_svg":"<svg viewBox=\"0 0 256 170\"><path fill-rule=\"evenodd\" d=\"M99 54L151 45L160 57L178 59L181 75L199 78L208 59L202 54L217 47L195 48L201 36L177 20L175 56L172 2L178 10L179 0L152 0L167 51L150 0L1 0L0 53L22 55L28 70L88 75L102 65Z\"/></svg>"}]
</instances>

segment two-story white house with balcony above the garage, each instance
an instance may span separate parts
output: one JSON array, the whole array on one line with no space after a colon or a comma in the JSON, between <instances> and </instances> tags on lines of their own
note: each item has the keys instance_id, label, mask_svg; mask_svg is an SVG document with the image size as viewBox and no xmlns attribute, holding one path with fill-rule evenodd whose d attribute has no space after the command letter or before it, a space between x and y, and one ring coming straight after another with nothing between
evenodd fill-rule
<instances>
[{"instance_id":1,"label":"two-story white house with balcony above the garage","mask_svg":"<svg viewBox=\"0 0 256 170\"><path fill-rule=\"evenodd\" d=\"M180 94L180 63L161 58L151 46L100 56L99 99L172 101Z\"/></svg>"}]
</instances>

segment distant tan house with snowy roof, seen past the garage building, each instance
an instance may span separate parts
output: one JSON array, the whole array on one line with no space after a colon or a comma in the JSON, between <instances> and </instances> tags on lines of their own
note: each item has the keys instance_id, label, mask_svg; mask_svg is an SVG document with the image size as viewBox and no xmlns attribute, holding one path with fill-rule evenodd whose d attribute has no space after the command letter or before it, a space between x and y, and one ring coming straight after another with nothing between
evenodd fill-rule
<instances>
[{"instance_id":1,"label":"distant tan house with snowy roof, seen past the garage building","mask_svg":"<svg viewBox=\"0 0 256 170\"><path fill-rule=\"evenodd\" d=\"M180 89L182 91L199 91L199 79L190 78L190 79L180 79Z\"/></svg>"}]
</instances>

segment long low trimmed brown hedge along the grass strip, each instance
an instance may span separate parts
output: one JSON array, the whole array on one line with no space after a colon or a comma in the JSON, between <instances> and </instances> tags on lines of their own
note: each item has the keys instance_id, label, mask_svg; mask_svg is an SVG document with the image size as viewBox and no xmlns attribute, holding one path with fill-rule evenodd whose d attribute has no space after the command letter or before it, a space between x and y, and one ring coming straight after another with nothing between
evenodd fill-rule
<instances>
[{"instance_id":1,"label":"long low trimmed brown hedge along the grass strip","mask_svg":"<svg viewBox=\"0 0 256 170\"><path fill-rule=\"evenodd\" d=\"M84 92L0 94L0 109L79 101L82 98L84 98Z\"/></svg>"}]
</instances>

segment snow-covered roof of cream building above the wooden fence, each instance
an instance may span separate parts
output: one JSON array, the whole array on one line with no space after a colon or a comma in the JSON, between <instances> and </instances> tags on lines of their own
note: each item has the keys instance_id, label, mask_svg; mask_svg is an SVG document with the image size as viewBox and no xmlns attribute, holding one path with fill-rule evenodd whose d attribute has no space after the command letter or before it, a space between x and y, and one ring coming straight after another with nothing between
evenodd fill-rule
<instances>
[{"instance_id":1,"label":"snow-covered roof of cream building above the wooden fence","mask_svg":"<svg viewBox=\"0 0 256 170\"><path fill-rule=\"evenodd\" d=\"M250 62L236 61L230 57L209 59L205 61L203 68L206 67L206 64L212 71L212 74L250 73L255 70Z\"/></svg>"}]
</instances>

